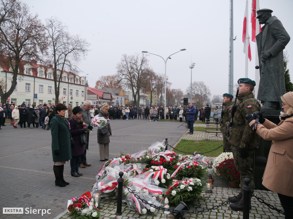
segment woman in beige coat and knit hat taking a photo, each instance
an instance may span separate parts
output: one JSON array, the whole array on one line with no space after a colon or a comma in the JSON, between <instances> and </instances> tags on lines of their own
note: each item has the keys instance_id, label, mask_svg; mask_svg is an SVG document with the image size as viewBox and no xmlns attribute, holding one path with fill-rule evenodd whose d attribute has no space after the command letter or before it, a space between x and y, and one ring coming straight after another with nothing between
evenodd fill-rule
<instances>
[{"instance_id":1,"label":"woman in beige coat and knit hat taking a photo","mask_svg":"<svg viewBox=\"0 0 293 219\"><path fill-rule=\"evenodd\" d=\"M255 132L264 140L272 140L263 185L278 193L287 219L293 215L293 92L285 93L281 99L285 112L281 112L280 123L276 125L261 116L262 124L257 125ZM248 122L254 129L255 120Z\"/></svg>"}]
</instances>

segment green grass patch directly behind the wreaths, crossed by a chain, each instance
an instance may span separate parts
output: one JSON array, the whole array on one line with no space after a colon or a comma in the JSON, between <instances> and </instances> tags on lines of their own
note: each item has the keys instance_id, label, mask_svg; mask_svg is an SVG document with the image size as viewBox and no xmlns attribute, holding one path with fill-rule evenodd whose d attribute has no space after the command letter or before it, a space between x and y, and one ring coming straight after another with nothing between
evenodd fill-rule
<instances>
[{"instance_id":1,"label":"green grass patch directly behind the wreaths, crossed by a chain","mask_svg":"<svg viewBox=\"0 0 293 219\"><path fill-rule=\"evenodd\" d=\"M198 153L202 153L202 152L213 150L213 149L219 147L222 144L223 144L223 142L219 142L219 141L194 141L194 140L182 139L178 143L178 145L176 146L176 149L181 150L181 151L186 151L186 152L195 152L195 151L197 151ZM174 151L178 152L176 150L174 150ZM204 154L204 155L205 156L211 156L211 157L217 157L222 152L223 152L223 147L220 147L219 149L217 149L215 151L212 151L212 152L209 152L209 153ZM178 153L181 154L181 152L178 152Z\"/></svg>"}]
</instances>

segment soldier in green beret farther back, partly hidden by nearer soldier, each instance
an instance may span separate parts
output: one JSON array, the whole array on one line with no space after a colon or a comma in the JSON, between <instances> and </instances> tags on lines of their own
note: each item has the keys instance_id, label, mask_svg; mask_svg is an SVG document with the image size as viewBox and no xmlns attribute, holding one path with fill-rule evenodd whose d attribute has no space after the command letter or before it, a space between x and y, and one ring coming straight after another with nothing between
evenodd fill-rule
<instances>
[{"instance_id":1,"label":"soldier in green beret farther back, partly hidden by nearer soldier","mask_svg":"<svg viewBox=\"0 0 293 219\"><path fill-rule=\"evenodd\" d=\"M223 94L223 103L224 108L222 109L221 113L221 132L223 134L223 146L225 152L232 152L231 150L231 144L229 141L227 141L227 125L230 123L231 120L231 112L232 112L232 100L233 95L229 93Z\"/></svg>"}]
</instances>

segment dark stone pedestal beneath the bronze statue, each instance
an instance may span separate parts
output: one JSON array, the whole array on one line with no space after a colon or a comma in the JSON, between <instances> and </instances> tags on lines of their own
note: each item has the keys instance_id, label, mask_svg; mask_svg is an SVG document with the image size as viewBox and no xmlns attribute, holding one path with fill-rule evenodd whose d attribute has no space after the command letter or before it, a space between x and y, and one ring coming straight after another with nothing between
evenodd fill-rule
<instances>
[{"instance_id":1,"label":"dark stone pedestal beneath the bronze statue","mask_svg":"<svg viewBox=\"0 0 293 219\"><path fill-rule=\"evenodd\" d=\"M280 123L280 119L279 119L280 111L270 110L270 111L262 111L262 113L265 119L268 119L275 124ZM263 186L262 178L263 178L263 173L265 171L265 166L267 164L268 154L270 152L271 145L272 145L272 141L268 141L268 140L264 140L263 138L260 138L259 147L257 150L255 150L254 171L253 171L255 189L268 190L266 187Z\"/></svg>"}]
</instances>

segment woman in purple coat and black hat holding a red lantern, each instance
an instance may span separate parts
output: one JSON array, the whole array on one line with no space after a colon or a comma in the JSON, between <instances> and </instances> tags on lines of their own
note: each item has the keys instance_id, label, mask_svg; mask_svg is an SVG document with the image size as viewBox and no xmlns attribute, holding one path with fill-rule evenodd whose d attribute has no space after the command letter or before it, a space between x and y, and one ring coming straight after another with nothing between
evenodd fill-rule
<instances>
[{"instance_id":1,"label":"woman in purple coat and black hat holding a red lantern","mask_svg":"<svg viewBox=\"0 0 293 219\"><path fill-rule=\"evenodd\" d=\"M79 172L79 159L84 154L84 145L81 145L81 134L86 133L86 128L83 128L83 119L81 114L84 111L80 107L72 109L72 117L68 120L70 125L70 133L74 141L74 148L72 149L72 158L70 159L71 176L79 177L83 174Z\"/></svg>"}]
</instances>

